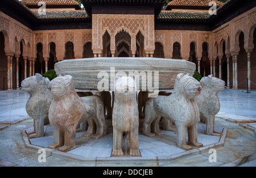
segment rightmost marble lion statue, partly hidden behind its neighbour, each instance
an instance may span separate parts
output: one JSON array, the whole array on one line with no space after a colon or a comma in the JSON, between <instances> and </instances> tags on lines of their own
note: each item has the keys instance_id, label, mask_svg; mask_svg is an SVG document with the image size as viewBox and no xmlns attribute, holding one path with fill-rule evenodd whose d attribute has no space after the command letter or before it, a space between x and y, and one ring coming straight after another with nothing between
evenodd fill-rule
<instances>
[{"instance_id":1,"label":"rightmost marble lion statue, partly hidden behind its neighbour","mask_svg":"<svg viewBox=\"0 0 256 178\"><path fill-rule=\"evenodd\" d=\"M217 93L224 90L225 82L208 75L200 80L201 94L195 98L200 111L200 120L206 124L207 135L220 135L214 130L214 117L220 111L220 100Z\"/></svg>"}]
</instances>

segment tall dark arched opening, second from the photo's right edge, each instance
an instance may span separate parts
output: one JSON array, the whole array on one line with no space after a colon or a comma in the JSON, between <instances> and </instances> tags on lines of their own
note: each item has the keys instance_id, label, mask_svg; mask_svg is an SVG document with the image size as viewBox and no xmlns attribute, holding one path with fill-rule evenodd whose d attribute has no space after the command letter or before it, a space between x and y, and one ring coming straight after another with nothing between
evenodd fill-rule
<instances>
[{"instance_id":1,"label":"tall dark arched opening, second from the photo's right edge","mask_svg":"<svg viewBox=\"0 0 256 178\"><path fill-rule=\"evenodd\" d=\"M247 88L247 82L245 82L245 80L247 79L247 53L245 52L244 48L245 36L243 32L240 32L238 40L240 52L237 56L237 87Z\"/></svg>"}]
</instances>

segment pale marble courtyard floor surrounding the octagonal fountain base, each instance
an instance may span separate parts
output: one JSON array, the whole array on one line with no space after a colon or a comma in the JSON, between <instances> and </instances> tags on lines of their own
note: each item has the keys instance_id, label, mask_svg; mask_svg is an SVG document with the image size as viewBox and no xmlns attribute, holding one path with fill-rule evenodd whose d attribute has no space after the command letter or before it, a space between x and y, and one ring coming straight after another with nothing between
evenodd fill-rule
<instances>
[{"instance_id":1,"label":"pale marble courtyard floor surrounding the octagonal fountain base","mask_svg":"<svg viewBox=\"0 0 256 178\"><path fill-rule=\"evenodd\" d=\"M114 162L108 161L109 159L101 162L86 162L51 152L47 154L46 162L40 163L38 150L28 147L27 143L31 145L48 143L38 143L36 139L26 143L24 140L24 129L30 129L33 125L33 120L27 115L25 109L28 94L23 91L0 91L0 166L256 166L256 91L250 91L247 94L245 90L225 89L218 96L221 109L216 116L216 125L225 128L226 132L224 144L214 147L217 162L209 162L209 149L201 149L192 154L181 152L175 159L130 159L129 161L115 159ZM47 127L51 130L51 126ZM202 128L199 127L199 133L200 129L203 130ZM171 135L172 133L165 132L164 134ZM105 143L109 145L109 148L102 152L111 150L110 139L112 137L107 136ZM50 139L51 135L49 135ZM158 140L161 139L163 138ZM142 147L147 148L148 138L140 135L140 141ZM156 138L151 141L150 144L159 143L159 148L164 145L164 143L156 142ZM207 141L209 140L205 140ZM93 142L90 144L92 145ZM150 153L147 153L146 149L140 148L140 150L146 156L152 154L152 150ZM164 149L162 151L164 155L166 151Z\"/></svg>"}]
</instances>

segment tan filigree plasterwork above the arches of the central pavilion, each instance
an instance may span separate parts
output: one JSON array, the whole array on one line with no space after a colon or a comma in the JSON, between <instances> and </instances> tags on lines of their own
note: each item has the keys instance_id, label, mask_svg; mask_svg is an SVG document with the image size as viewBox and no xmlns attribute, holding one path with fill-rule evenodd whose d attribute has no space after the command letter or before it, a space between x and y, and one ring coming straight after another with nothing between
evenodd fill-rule
<instances>
[{"instance_id":1,"label":"tan filigree plasterwork above the arches of the central pavilion","mask_svg":"<svg viewBox=\"0 0 256 178\"><path fill-rule=\"evenodd\" d=\"M106 31L115 36L122 30L129 33L132 39L141 31L144 49L155 49L154 15L93 14L92 18L92 48L95 51L102 50L102 36Z\"/></svg>"}]
</instances>

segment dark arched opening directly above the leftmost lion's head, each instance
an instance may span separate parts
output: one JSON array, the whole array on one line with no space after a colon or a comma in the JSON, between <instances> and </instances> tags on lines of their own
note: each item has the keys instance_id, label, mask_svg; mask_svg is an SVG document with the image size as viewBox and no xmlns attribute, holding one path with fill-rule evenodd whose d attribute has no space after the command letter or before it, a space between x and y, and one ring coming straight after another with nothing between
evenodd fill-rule
<instances>
[{"instance_id":1,"label":"dark arched opening directly above the leftmost lion's head","mask_svg":"<svg viewBox=\"0 0 256 178\"><path fill-rule=\"evenodd\" d=\"M43 44L38 43L36 45L36 61L35 61L35 73L43 75L45 73L46 67L43 58Z\"/></svg>"}]
</instances>

